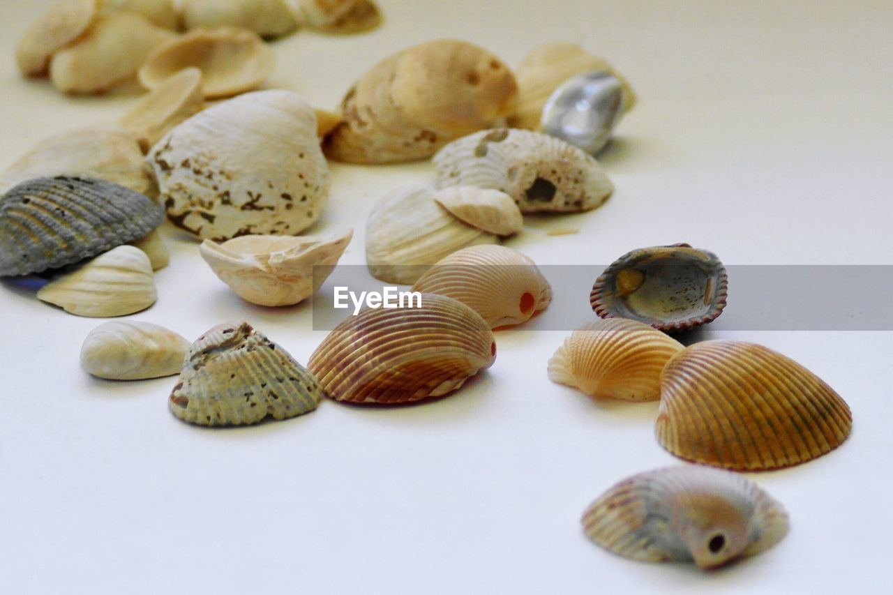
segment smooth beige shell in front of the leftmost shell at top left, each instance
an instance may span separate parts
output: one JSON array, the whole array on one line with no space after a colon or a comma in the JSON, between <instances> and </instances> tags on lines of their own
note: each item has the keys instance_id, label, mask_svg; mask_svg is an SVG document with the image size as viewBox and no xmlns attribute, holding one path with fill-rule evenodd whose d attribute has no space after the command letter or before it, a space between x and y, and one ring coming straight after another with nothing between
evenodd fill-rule
<instances>
[{"instance_id":1,"label":"smooth beige shell in front of the leftmost shell at top left","mask_svg":"<svg viewBox=\"0 0 893 595\"><path fill-rule=\"evenodd\" d=\"M50 81L63 93L102 93L133 78L146 57L176 36L137 13L103 12L50 60Z\"/></svg>"}]
</instances>

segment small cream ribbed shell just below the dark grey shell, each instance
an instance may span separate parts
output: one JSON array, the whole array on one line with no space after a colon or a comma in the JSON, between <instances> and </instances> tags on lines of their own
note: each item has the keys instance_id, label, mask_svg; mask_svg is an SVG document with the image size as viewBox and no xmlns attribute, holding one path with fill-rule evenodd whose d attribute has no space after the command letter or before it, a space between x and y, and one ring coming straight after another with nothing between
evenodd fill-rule
<instances>
[{"instance_id":1,"label":"small cream ribbed shell just below the dark grey shell","mask_svg":"<svg viewBox=\"0 0 893 595\"><path fill-rule=\"evenodd\" d=\"M157 298L149 257L133 246L112 248L38 291L39 300L93 318L133 314Z\"/></svg>"}]
</instances>

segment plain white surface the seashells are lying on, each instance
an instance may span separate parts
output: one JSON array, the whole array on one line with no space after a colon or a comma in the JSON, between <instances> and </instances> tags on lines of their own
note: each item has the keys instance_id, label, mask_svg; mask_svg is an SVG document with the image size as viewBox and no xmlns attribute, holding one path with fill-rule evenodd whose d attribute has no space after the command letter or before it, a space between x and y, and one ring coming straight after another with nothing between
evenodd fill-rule
<instances>
[{"instance_id":1,"label":"plain white surface the seashells are lying on","mask_svg":"<svg viewBox=\"0 0 893 595\"><path fill-rule=\"evenodd\" d=\"M0 168L136 101L63 97L18 76L14 44L46 4L0 2ZM893 261L889 1L381 5L387 20L371 34L277 42L269 86L332 107L380 58L449 36L513 65L539 43L570 40L632 81L640 103L603 158L616 192L592 213L529 220L509 245L538 263L605 264L677 241L726 264ZM313 230L353 226L342 262L362 264L374 201L431 173L430 163L334 164ZM545 233L567 227L580 233ZM240 301L195 241L166 232L158 303L133 318L189 339L245 319L306 362L324 336L308 306ZM734 297L731 280L730 308ZM2 592L870 592L893 580L888 332L707 333L794 357L847 399L855 423L829 456L753 475L788 507L792 530L704 574L615 557L581 531L602 491L675 459L654 440L656 404L594 403L548 381L566 333L499 331L496 365L435 403L327 401L287 422L213 431L167 411L173 378L82 373L80 342L99 322L0 286Z\"/></svg>"}]
</instances>

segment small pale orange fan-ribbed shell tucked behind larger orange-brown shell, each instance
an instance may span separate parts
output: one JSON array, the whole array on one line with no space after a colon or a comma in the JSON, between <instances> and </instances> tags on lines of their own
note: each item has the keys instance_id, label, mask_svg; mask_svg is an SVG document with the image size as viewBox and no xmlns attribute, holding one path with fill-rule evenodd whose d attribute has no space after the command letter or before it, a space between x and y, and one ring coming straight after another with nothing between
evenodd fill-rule
<instances>
[{"instance_id":1,"label":"small pale orange fan-ribbed shell tucked behind larger orange-brown shell","mask_svg":"<svg viewBox=\"0 0 893 595\"><path fill-rule=\"evenodd\" d=\"M549 360L549 380L597 398L653 401L661 396L663 366L682 349L647 324L599 320L564 339Z\"/></svg>"}]
</instances>

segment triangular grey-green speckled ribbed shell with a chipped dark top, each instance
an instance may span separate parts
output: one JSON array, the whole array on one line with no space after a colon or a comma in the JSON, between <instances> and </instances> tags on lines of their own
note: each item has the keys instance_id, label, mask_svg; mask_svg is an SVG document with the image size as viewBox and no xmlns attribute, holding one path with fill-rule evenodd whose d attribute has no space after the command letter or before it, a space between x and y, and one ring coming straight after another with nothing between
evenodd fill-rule
<instances>
[{"instance_id":1,"label":"triangular grey-green speckled ribbed shell with a chipped dark top","mask_svg":"<svg viewBox=\"0 0 893 595\"><path fill-rule=\"evenodd\" d=\"M171 392L171 413L198 425L243 425L313 411L313 375L248 323L218 324L199 337Z\"/></svg>"}]
</instances>

